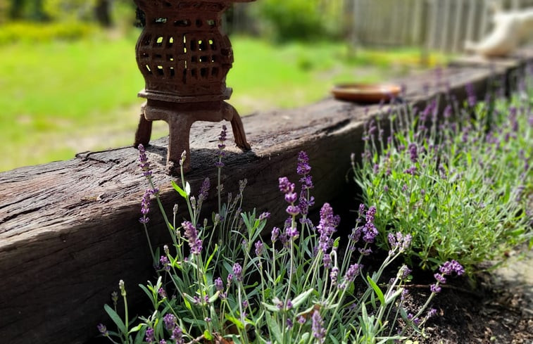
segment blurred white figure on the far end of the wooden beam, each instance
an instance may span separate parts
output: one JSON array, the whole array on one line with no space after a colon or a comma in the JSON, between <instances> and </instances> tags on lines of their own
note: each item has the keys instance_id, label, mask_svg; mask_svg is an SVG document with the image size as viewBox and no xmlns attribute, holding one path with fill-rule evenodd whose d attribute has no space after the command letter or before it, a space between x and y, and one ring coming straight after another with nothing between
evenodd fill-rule
<instances>
[{"instance_id":1,"label":"blurred white figure on the far end of the wooden beam","mask_svg":"<svg viewBox=\"0 0 533 344\"><path fill-rule=\"evenodd\" d=\"M465 42L466 51L482 56L506 56L533 35L533 8L520 11L497 10L492 18L494 29L481 42Z\"/></svg>"}]
</instances>

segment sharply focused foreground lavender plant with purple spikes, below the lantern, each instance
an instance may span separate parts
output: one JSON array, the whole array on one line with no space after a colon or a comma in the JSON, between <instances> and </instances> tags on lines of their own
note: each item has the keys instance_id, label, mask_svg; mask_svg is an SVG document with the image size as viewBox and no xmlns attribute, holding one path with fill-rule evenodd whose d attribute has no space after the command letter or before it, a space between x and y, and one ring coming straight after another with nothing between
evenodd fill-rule
<instances>
[{"instance_id":1,"label":"sharply focused foreground lavender plant with purple spikes, below the lantern","mask_svg":"<svg viewBox=\"0 0 533 344\"><path fill-rule=\"evenodd\" d=\"M218 212L211 222L202 223L199 213L208 196L208 179L197 198L183 173L183 184L173 183L187 204L190 220L176 223L175 207L170 222L153 186L144 148L139 146L149 182L140 222L149 236L148 203L155 196L172 244L163 247L160 257L154 256L156 283L141 286L153 306L149 316L133 323L127 314L122 320L116 307L106 306L118 331L99 325L103 336L113 343L393 343L422 332L434 314L427 312L429 301L450 269L432 286L423 307L407 310L404 286L410 270L403 266L393 279L382 280L384 270L409 248L411 236L391 234L382 265L374 272L365 270L363 262L372 254L378 234L377 209L361 205L356 226L344 241L336 236L340 219L328 203L320 209L318 224L313 224L308 217L315 202L313 180L304 152L299 153L296 167L298 188L287 177L278 180L287 220L265 238L270 214L242 211L244 182L238 196L229 197L225 204L220 200L224 138L225 129L216 165ZM125 300L123 283L120 291Z\"/></svg>"}]
</instances>

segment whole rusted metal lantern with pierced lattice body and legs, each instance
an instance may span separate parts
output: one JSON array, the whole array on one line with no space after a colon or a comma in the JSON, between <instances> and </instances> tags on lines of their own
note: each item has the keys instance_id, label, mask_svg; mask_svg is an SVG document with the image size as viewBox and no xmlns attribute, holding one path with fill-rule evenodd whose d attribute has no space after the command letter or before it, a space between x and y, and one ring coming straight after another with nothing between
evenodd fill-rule
<instances>
[{"instance_id":1,"label":"whole rusted metal lantern with pierced lattice body and legs","mask_svg":"<svg viewBox=\"0 0 533 344\"><path fill-rule=\"evenodd\" d=\"M146 82L135 146L148 144L151 121L168 123L167 169L177 172L182 152L184 170L191 168L189 132L193 122L232 124L235 143L249 150L237 110L225 100L232 89L226 75L233 51L222 33L222 13L233 2L254 0L134 0L144 12L146 26L137 41L137 65Z\"/></svg>"}]
</instances>

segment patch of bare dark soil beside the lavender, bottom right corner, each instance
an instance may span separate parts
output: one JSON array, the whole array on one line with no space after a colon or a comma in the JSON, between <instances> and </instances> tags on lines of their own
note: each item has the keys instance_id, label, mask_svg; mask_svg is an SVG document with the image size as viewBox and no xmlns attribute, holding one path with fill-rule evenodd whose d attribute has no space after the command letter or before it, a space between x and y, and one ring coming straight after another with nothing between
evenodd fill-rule
<instances>
[{"instance_id":1,"label":"patch of bare dark soil beside the lavender, bottom right corner","mask_svg":"<svg viewBox=\"0 0 533 344\"><path fill-rule=\"evenodd\" d=\"M520 248L506 267L477 276L476 286L465 278L450 282L433 300L438 316L420 343L533 344L533 250ZM413 302L428 293L412 288Z\"/></svg>"}]
</instances>

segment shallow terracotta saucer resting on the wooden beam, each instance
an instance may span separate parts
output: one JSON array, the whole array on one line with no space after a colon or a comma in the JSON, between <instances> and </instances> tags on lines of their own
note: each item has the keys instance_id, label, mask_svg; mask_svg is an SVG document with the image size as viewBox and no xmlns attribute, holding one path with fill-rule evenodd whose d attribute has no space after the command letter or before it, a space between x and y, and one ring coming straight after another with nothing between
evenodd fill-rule
<instances>
[{"instance_id":1,"label":"shallow terracotta saucer resting on the wooden beam","mask_svg":"<svg viewBox=\"0 0 533 344\"><path fill-rule=\"evenodd\" d=\"M338 84L332 94L341 101L379 103L397 97L401 87L395 84Z\"/></svg>"}]
</instances>

